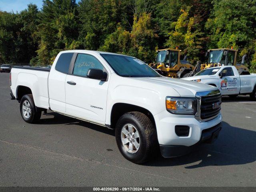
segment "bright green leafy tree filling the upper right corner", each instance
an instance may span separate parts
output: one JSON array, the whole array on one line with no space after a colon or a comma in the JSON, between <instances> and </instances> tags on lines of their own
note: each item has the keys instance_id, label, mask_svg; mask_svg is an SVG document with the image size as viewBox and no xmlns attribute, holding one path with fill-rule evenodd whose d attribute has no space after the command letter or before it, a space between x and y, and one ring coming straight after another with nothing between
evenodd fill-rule
<instances>
[{"instance_id":1,"label":"bright green leafy tree filling the upper right corner","mask_svg":"<svg viewBox=\"0 0 256 192\"><path fill-rule=\"evenodd\" d=\"M239 49L240 56L247 54L247 61L254 66L256 39L256 0L214 0L213 10L206 29L210 48Z\"/></svg>"}]
</instances>

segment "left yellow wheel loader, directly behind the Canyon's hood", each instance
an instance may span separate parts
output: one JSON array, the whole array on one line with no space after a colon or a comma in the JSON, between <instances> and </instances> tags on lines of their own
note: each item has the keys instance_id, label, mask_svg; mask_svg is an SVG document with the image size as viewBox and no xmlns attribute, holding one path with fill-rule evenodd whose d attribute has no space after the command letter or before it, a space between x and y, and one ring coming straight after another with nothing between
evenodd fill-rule
<instances>
[{"instance_id":1,"label":"left yellow wheel loader, directly behind the Canyon's hood","mask_svg":"<svg viewBox=\"0 0 256 192\"><path fill-rule=\"evenodd\" d=\"M181 50L177 48L160 49L156 50L156 52L156 63L150 63L148 65L163 76L182 78L195 68L187 60L180 60ZM186 56L184 58L186 58Z\"/></svg>"}]
</instances>

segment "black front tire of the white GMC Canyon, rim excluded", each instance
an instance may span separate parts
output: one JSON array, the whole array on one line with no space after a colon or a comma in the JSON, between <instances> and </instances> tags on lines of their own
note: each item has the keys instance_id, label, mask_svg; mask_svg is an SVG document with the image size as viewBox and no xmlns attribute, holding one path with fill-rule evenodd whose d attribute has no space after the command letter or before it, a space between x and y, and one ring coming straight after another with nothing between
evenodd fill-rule
<instances>
[{"instance_id":1,"label":"black front tire of the white GMC Canyon, rim excluded","mask_svg":"<svg viewBox=\"0 0 256 192\"><path fill-rule=\"evenodd\" d=\"M128 152L122 144L122 128L126 124L132 124L140 135L140 146L135 153ZM119 118L116 124L116 143L124 158L136 164L150 160L158 149L156 129L150 119L141 112L128 112Z\"/></svg>"}]
</instances>

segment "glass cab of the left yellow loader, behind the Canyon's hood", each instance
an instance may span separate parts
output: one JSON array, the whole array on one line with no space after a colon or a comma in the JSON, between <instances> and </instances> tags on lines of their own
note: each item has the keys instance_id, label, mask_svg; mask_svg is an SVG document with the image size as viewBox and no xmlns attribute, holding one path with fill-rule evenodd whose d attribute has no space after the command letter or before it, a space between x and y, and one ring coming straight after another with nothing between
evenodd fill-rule
<instances>
[{"instance_id":1,"label":"glass cab of the left yellow loader, behind the Canyon's hood","mask_svg":"<svg viewBox=\"0 0 256 192\"><path fill-rule=\"evenodd\" d=\"M176 49L157 50L156 62L162 63L164 68L174 68L179 62L180 51Z\"/></svg>"}]
</instances>

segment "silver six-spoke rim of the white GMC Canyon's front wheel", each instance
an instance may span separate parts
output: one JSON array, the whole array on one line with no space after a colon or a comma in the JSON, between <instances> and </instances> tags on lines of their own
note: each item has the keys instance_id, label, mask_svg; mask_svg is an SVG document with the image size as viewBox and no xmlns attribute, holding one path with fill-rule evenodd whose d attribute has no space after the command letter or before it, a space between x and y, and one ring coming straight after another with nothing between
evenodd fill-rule
<instances>
[{"instance_id":1,"label":"silver six-spoke rim of the white GMC Canyon's front wheel","mask_svg":"<svg viewBox=\"0 0 256 192\"><path fill-rule=\"evenodd\" d=\"M140 134L132 124L125 124L123 126L121 140L124 148L129 153L136 153L140 148Z\"/></svg>"}]
</instances>

